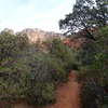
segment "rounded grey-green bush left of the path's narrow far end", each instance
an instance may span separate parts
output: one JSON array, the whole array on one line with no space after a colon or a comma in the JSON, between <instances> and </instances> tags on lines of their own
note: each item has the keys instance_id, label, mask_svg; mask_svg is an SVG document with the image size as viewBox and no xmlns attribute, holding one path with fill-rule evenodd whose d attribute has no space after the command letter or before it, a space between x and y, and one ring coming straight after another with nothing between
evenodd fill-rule
<instances>
[{"instance_id":1,"label":"rounded grey-green bush left of the path's narrow far end","mask_svg":"<svg viewBox=\"0 0 108 108\"><path fill-rule=\"evenodd\" d=\"M37 52L24 57L30 67L32 79L38 82L59 82L64 80L66 71L60 60L50 54ZM36 77L36 78L35 78ZM56 78L56 80L54 79Z\"/></svg>"}]
</instances>

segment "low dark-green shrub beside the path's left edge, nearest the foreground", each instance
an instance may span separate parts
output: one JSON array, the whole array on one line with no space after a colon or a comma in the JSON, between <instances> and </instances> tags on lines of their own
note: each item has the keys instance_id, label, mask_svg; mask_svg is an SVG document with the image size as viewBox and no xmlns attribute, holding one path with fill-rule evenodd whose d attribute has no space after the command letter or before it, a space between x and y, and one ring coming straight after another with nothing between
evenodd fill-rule
<instances>
[{"instance_id":1,"label":"low dark-green shrub beside the path's left edge, nearest the foreground","mask_svg":"<svg viewBox=\"0 0 108 108\"><path fill-rule=\"evenodd\" d=\"M31 85L31 84L30 84ZM32 98L32 99L30 99ZM55 85L53 83L33 83L26 92L26 100L33 105L48 105L55 102Z\"/></svg>"}]
</instances>

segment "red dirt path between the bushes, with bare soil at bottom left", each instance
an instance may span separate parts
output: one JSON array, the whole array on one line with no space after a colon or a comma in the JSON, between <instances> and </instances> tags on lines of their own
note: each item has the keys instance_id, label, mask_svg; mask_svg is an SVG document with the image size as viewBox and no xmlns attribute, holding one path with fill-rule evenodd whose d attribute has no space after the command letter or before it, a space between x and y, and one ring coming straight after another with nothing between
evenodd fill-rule
<instances>
[{"instance_id":1,"label":"red dirt path between the bushes, with bare soil at bottom left","mask_svg":"<svg viewBox=\"0 0 108 108\"><path fill-rule=\"evenodd\" d=\"M69 81L62 84L56 91L56 104L43 108L80 108L80 85L76 81L75 71L70 72ZM2 108L2 107L0 107ZM37 108L19 103L14 108Z\"/></svg>"}]
</instances>

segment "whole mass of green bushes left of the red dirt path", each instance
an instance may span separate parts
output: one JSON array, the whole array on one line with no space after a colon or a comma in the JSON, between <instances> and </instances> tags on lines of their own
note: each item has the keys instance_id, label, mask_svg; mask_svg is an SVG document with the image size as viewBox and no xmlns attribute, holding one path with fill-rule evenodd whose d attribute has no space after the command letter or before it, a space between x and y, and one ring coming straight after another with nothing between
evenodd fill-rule
<instances>
[{"instance_id":1,"label":"whole mass of green bushes left of the red dirt path","mask_svg":"<svg viewBox=\"0 0 108 108\"><path fill-rule=\"evenodd\" d=\"M13 102L24 98L36 105L54 103L57 84L67 81L67 69L72 69L76 65L70 49L65 45L56 46L55 44L52 49L60 49L62 52L43 53L35 44L30 44L26 36L2 32L0 100Z\"/></svg>"}]
</instances>

